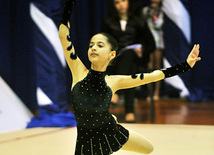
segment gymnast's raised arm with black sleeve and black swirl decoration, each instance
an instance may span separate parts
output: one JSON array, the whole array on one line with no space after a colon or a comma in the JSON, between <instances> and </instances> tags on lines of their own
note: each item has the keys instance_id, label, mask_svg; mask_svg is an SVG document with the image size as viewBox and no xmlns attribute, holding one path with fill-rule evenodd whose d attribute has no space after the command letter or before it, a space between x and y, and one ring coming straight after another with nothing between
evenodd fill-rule
<instances>
[{"instance_id":1,"label":"gymnast's raised arm with black sleeve and black swirl decoration","mask_svg":"<svg viewBox=\"0 0 214 155\"><path fill-rule=\"evenodd\" d=\"M63 14L61 18L61 25L59 27L59 38L63 47L64 55L67 61L67 64L72 72L72 87L81 79L83 79L88 70L85 65L81 62L78 58L77 54L75 53L75 49L71 42L70 38L70 18L73 6L77 0L66 0L65 6L63 9Z\"/></svg>"}]
</instances>

